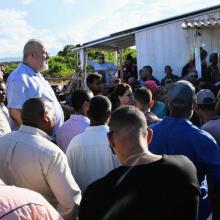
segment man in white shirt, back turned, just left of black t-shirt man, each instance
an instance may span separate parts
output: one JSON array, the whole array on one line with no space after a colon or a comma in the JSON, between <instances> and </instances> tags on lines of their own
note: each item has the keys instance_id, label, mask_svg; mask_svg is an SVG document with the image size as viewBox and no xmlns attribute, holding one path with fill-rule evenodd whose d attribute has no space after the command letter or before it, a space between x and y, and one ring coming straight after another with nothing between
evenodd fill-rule
<instances>
[{"instance_id":1,"label":"man in white shirt, back turned, just left of black t-shirt man","mask_svg":"<svg viewBox=\"0 0 220 220\"><path fill-rule=\"evenodd\" d=\"M72 139L67 148L67 160L80 189L105 176L119 166L109 146L107 126L111 102L105 96L95 96L89 104L90 127Z\"/></svg>"}]
</instances>

